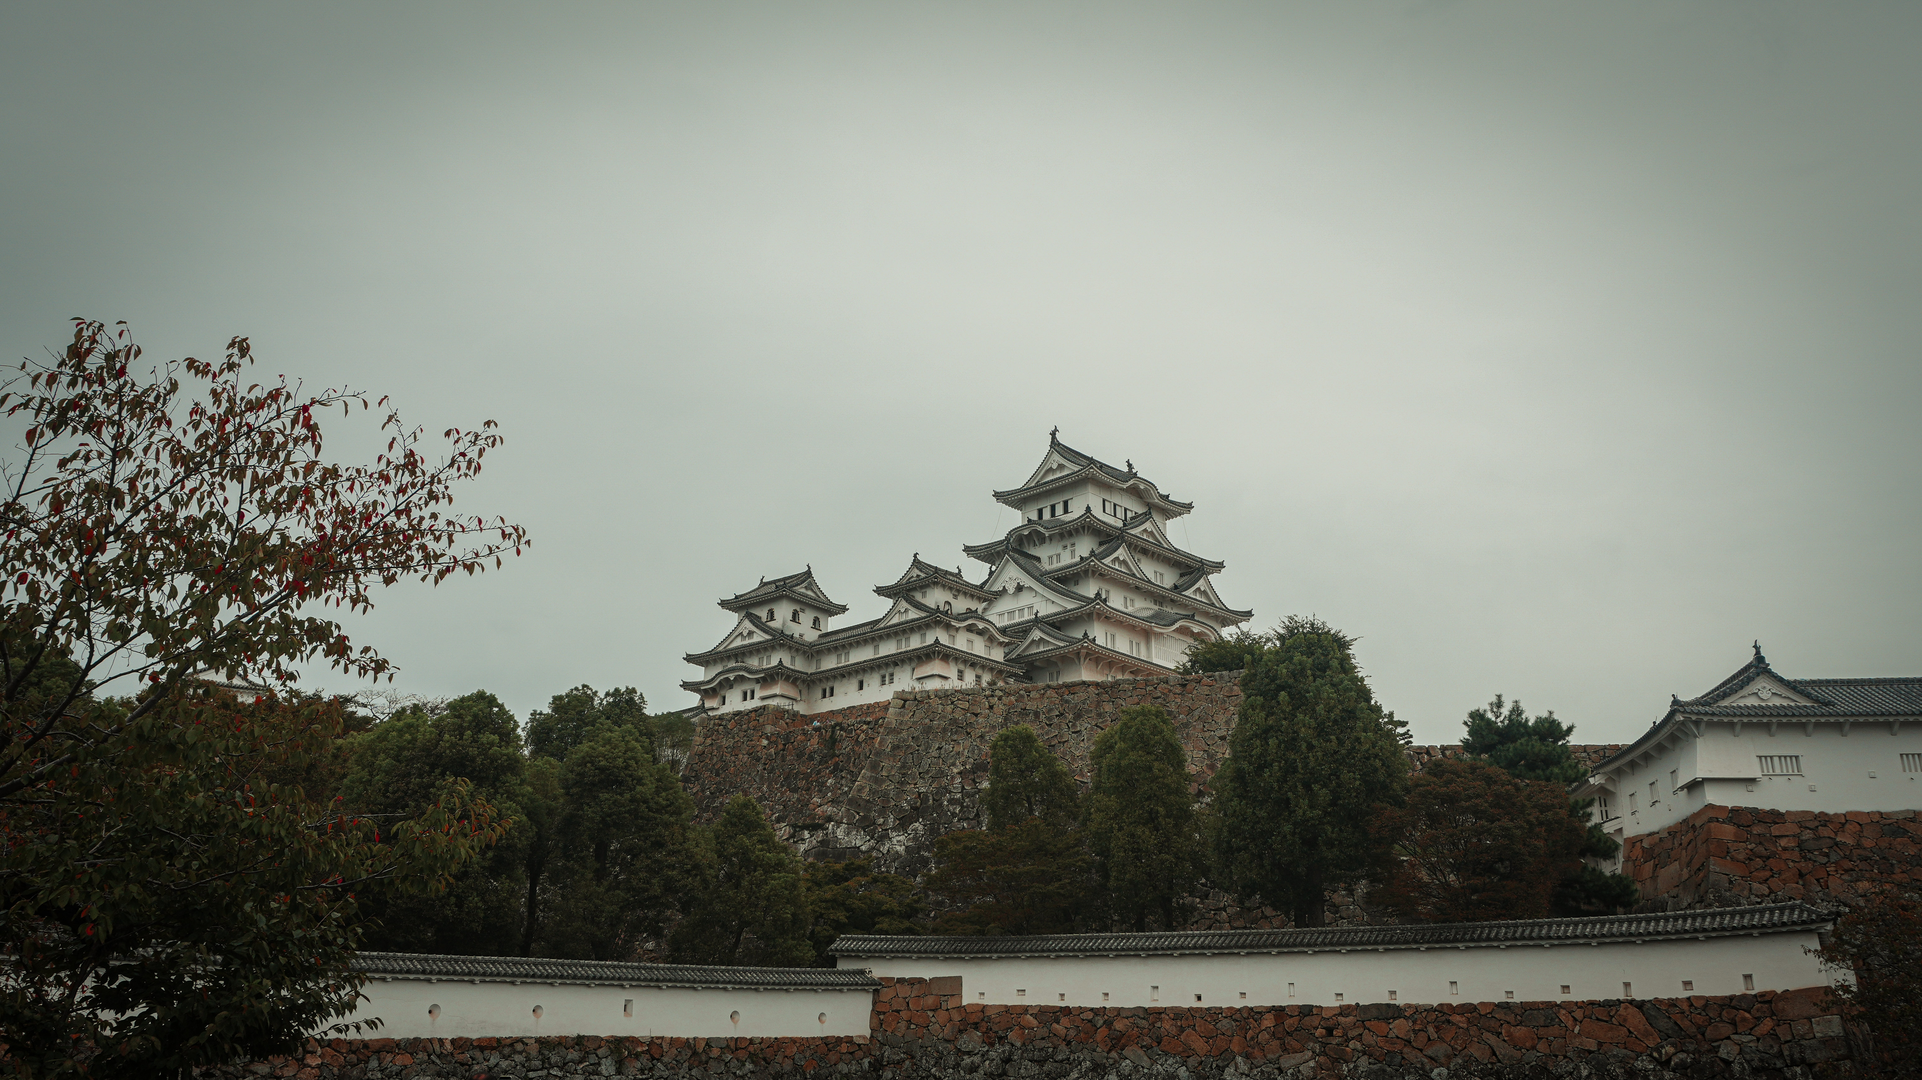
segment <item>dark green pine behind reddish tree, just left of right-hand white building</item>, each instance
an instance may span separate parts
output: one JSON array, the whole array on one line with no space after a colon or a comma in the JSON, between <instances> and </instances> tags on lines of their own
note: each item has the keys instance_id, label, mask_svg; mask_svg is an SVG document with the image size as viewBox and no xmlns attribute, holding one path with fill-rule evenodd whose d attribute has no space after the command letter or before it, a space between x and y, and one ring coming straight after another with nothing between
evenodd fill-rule
<instances>
[{"instance_id":1,"label":"dark green pine behind reddish tree, just left of right-hand white building","mask_svg":"<svg viewBox=\"0 0 1922 1080\"><path fill-rule=\"evenodd\" d=\"M1588 776L1588 769L1574 759L1568 738L1574 724L1555 719L1555 711L1530 717L1520 701L1505 701L1501 694L1486 709L1468 709L1463 721L1461 748L1470 757L1499 765L1511 776L1522 780L1547 780L1565 790ZM1614 859L1622 846L1601 830L1599 822L1589 822L1593 799L1568 799L1568 813L1584 822L1582 855L1588 859ZM1551 909L1555 915L1614 913L1641 899L1636 882L1601 871L1589 863L1576 865L1557 882Z\"/></svg>"}]
</instances>

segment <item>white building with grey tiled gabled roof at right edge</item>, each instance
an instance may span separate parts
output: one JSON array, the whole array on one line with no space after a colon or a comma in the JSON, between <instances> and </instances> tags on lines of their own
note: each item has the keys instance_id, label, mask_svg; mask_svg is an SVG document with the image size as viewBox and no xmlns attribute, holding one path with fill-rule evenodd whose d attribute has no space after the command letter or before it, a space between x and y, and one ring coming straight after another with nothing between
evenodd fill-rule
<instances>
[{"instance_id":1,"label":"white building with grey tiled gabled roof at right edge","mask_svg":"<svg viewBox=\"0 0 1922 1080\"><path fill-rule=\"evenodd\" d=\"M1762 646L1595 765L1574 796L1616 840L1705 805L1784 811L1922 807L1922 678L1784 678Z\"/></svg>"}]
</instances>

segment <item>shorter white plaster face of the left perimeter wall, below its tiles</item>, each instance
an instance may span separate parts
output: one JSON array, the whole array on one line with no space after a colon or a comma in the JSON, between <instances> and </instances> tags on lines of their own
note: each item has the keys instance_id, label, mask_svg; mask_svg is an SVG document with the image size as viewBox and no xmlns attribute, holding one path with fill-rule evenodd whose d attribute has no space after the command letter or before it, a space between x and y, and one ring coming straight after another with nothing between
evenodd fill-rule
<instances>
[{"instance_id":1,"label":"shorter white plaster face of the left perimeter wall, below its tiles","mask_svg":"<svg viewBox=\"0 0 1922 1080\"><path fill-rule=\"evenodd\" d=\"M865 1036L871 990L692 990L546 982L367 980L357 1038ZM632 1001L632 1017L625 1015ZM429 1009L440 1005L440 1015ZM534 1007L540 1017L534 1017ZM738 1013L738 1019L734 1015ZM823 1019L826 1015L826 1019Z\"/></svg>"}]
</instances>

